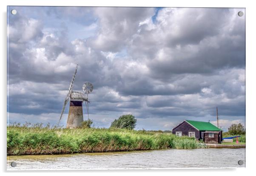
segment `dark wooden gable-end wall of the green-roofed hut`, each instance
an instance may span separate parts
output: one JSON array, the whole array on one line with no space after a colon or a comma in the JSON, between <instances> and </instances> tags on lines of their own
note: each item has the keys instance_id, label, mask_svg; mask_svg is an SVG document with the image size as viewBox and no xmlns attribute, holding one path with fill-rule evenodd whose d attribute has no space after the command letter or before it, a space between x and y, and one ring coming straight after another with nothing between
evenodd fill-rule
<instances>
[{"instance_id":1,"label":"dark wooden gable-end wall of the green-roofed hut","mask_svg":"<svg viewBox=\"0 0 256 176\"><path fill-rule=\"evenodd\" d=\"M182 132L182 136L188 136L188 132L195 132L195 138L199 139L199 131L190 124L188 124L188 122L186 121L182 122L173 129L174 135L176 135L176 132Z\"/></svg>"}]
</instances>

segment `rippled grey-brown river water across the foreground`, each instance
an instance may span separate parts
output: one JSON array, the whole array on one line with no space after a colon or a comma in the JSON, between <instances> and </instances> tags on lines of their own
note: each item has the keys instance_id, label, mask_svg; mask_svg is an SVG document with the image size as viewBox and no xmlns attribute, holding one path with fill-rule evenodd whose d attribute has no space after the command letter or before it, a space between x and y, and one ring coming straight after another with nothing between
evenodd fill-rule
<instances>
[{"instance_id":1,"label":"rippled grey-brown river water across the foreground","mask_svg":"<svg viewBox=\"0 0 256 176\"><path fill-rule=\"evenodd\" d=\"M7 170L237 168L245 148L168 149L7 157ZM16 167L11 167L16 162Z\"/></svg>"}]
</instances>

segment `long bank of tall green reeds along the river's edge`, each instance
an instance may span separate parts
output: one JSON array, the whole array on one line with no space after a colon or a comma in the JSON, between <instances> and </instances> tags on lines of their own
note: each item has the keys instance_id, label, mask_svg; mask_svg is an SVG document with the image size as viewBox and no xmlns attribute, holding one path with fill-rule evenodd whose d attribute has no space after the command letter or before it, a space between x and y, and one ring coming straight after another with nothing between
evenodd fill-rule
<instances>
[{"instance_id":1,"label":"long bank of tall green reeds along the river's edge","mask_svg":"<svg viewBox=\"0 0 256 176\"><path fill-rule=\"evenodd\" d=\"M171 133L125 129L7 127L7 155L205 148L204 143Z\"/></svg>"}]
</instances>

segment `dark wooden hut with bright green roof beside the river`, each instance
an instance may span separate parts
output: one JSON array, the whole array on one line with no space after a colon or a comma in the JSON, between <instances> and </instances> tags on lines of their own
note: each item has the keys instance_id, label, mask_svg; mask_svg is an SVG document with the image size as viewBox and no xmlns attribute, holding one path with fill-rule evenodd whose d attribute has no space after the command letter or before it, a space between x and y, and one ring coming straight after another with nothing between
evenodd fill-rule
<instances>
[{"instance_id":1,"label":"dark wooden hut with bright green roof beside the river","mask_svg":"<svg viewBox=\"0 0 256 176\"><path fill-rule=\"evenodd\" d=\"M172 133L177 136L195 137L205 143L221 143L222 130L210 122L185 120L175 126Z\"/></svg>"}]
</instances>

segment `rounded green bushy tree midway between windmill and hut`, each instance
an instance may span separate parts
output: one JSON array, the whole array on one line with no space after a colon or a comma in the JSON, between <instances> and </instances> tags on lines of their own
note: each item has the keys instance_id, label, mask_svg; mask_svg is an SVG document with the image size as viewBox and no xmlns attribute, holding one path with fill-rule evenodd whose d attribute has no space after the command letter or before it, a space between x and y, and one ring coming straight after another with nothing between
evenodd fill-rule
<instances>
[{"instance_id":1,"label":"rounded green bushy tree midway between windmill and hut","mask_svg":"<svg viewBox=\"0 0 256 176\"><path fill-rule=\"evenodd\" d=\"M115 119L110 127L114 128L125 128L125 129L134 129L136 126L136 118L131 115L121 115L118 119Z\"/></svg>"}]
</instances>

